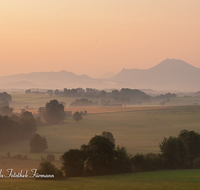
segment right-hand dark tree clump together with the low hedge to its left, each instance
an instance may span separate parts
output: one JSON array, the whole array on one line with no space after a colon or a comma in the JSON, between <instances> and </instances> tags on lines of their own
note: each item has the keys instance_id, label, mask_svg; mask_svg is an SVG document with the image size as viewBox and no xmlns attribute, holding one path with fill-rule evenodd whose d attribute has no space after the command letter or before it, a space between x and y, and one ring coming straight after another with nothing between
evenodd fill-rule
<instances>
[{"instance_id":1,"label":"right-hand dark tree clump together with the low hedge to its left","mask_svg":"<svg viewBox=\"0 0 200 190\"><path fill-rule=\"evenodd\" d=\"M135 171L200 168L200 134L182 130L178 137L164 138L161 154L136 154L132 157Z\"/></svg>"}]
</instances>

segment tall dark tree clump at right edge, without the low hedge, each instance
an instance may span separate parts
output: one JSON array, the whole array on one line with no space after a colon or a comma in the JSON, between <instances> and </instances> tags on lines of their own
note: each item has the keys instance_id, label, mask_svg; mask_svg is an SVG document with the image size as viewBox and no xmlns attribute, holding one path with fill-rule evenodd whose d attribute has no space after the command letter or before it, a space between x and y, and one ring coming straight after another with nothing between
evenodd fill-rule
<instances>
[{"instance_id":1,"label":"tall dark tree clump at right edge, without the low hedge","mask_svg":"<svg viewBox=\"0 0 200 190\"><path fill-rule=\"evenodd\" d=\"M164 138L159 147L170 168L192 167L200 157L200 134L182 130L178 137Z\"/></svg>"}]
</instances>

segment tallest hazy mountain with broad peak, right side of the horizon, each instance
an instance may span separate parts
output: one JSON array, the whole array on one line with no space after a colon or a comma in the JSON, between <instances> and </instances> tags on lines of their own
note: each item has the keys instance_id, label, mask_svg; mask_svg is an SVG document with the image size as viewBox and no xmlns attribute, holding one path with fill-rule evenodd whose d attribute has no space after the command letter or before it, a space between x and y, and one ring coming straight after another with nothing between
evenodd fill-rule
<instances>
[{"instance_id":1,"label":"tallest hazy mountain with broad peak, right side of the horizon","mask_svg":"<svg viewBox=\"0 0 200 190\"><path fill-rule=\"evenodd\" d=\"M123 69L110 80L119 87L200 90L200 69L182 60L166 59L150 69Z\"/></svg>"}]
</instances>

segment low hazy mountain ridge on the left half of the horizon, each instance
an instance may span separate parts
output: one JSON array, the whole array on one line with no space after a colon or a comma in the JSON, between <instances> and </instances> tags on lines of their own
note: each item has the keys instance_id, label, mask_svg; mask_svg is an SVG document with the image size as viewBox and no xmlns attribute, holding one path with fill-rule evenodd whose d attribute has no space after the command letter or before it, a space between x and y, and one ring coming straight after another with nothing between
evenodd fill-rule
<instances>
[{"instance_id":1,"label":"low hazy mountain ridge on the left half of the horizon","mask_svg":"<svg viewBox=\"0 0 200 190\"><path fill-rule=\"evenodd\" d=\"M4 84L1 88L105 88L106 81L93 79L87 75L76 75L72 72L33 72L28 74L17 74L0 77ZM22 82L23 81L23 82ZM26 81L26 82L25 82ZM23 84L22 84L23 83ZM26 84L25 84L26 83ZM108 86L108 85L107 85Z\"/></svg>"}]
</instances>

